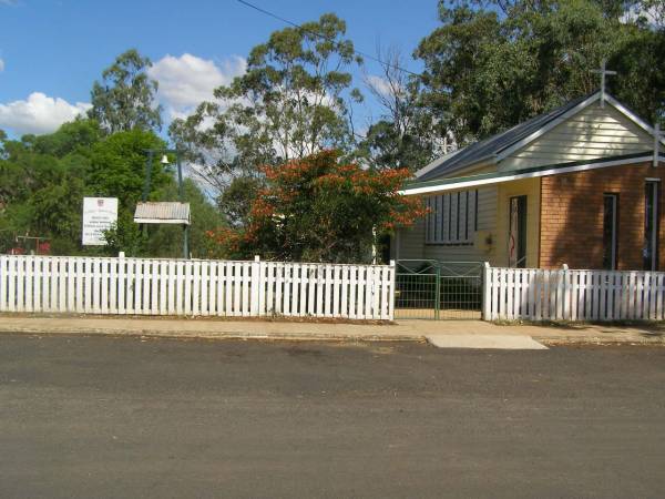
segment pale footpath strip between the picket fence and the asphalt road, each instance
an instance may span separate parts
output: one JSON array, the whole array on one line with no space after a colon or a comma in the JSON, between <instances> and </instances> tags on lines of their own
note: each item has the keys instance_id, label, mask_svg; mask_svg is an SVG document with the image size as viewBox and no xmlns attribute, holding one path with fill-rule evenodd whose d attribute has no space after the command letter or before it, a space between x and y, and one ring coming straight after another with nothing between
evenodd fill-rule
<instances>
[{"instance_id":1,"label":"pale footpath strip between the picket fence and the asphalt road","mask_svg":"<svg viewBox=\"0 0 665 499\"><path fill-rule=\"evenodd\" d=\"M329 324L287 320L224 320L108 316L0 315L0 333L82 334L208 339L426 342L458 348L533 348L559 344L665 344L651 327L500 326L481 320L399 320L397 324ZM514 339L513 339L514 338ZM521 339L518 339L521 338Z\"/></svg>"}]
</instances>

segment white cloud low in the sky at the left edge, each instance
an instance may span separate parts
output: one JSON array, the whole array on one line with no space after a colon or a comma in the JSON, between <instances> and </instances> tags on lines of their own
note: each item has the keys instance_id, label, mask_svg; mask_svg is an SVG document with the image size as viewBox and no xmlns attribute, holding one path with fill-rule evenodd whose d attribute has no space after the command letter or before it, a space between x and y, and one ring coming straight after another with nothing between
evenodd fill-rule
<instances>
[{"instance_id":1,"label":"white cloud low in the sky at the left edge","mask_svg":"<svg viewBox=\"0 0 665 499\"><path fill-rule=\"evenodd\" d=\"M70 104L64 99L33 92L24 101L0 104L0 128L8 128L19 135L49 133L90 108L85 102Z\"/></svg>"}]
</instances>

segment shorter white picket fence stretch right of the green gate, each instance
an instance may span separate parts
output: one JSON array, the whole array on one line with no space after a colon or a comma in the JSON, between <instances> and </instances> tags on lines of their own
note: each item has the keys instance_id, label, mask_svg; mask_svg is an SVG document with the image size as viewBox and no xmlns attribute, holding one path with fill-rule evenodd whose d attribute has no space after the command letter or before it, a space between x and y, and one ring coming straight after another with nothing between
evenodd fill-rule
<instances>
[{"instance_id":1,"label":"shorter white picket fence stretch right of the green gate","mask_svg":"<svg viewBox=\"0 0 665 499\"><path fill-rule=\"evenodd\" d=\"M483 318L663 320L665 273L485 266Z\"/></svg>"}]
</instances>

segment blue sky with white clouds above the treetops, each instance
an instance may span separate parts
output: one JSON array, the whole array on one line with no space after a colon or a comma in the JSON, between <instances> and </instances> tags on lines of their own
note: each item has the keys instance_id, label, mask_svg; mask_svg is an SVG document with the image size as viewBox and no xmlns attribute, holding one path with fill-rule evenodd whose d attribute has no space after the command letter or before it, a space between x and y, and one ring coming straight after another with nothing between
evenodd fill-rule
<instances>
[{"instance_id":1,"label":"blue sky with white clouds above the treetops","mask_svg":"<svg viewBox=\"0 0 665 499\"><path fill-rule=\"evenodd\" d=\"M374 54L378 42L398 45L413 71L420 67L412 50L438 26L436 0L252 2L295 22L335 12L357 49ZM53 130L86 108L92 82L132 47L155 62L166 120L186 114L284 27L236 0L0 0L0 129L13 136ZM379 73L371 61L366 71ZM378 112L369 102L364 118Z\"/></svg>"}]
</instances>

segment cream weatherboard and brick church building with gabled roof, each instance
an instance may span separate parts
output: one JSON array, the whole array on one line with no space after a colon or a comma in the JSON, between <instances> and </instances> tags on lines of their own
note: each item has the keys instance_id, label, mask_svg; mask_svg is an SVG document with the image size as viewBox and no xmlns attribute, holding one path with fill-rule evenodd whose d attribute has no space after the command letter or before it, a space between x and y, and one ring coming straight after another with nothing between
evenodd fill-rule
<instances>
[{"instance_id":1,"label":"cream weatherboard and brick church building with gabled roof","mask_svg":"<svg viewBox=\"0 0 665 499\"><path fill-rule=\"evenodd\" d=\"M429 214L398 231L391 257L664 269L657 130L600 90L447 154L405 189Z\"/></svg>"}]
</instances>

